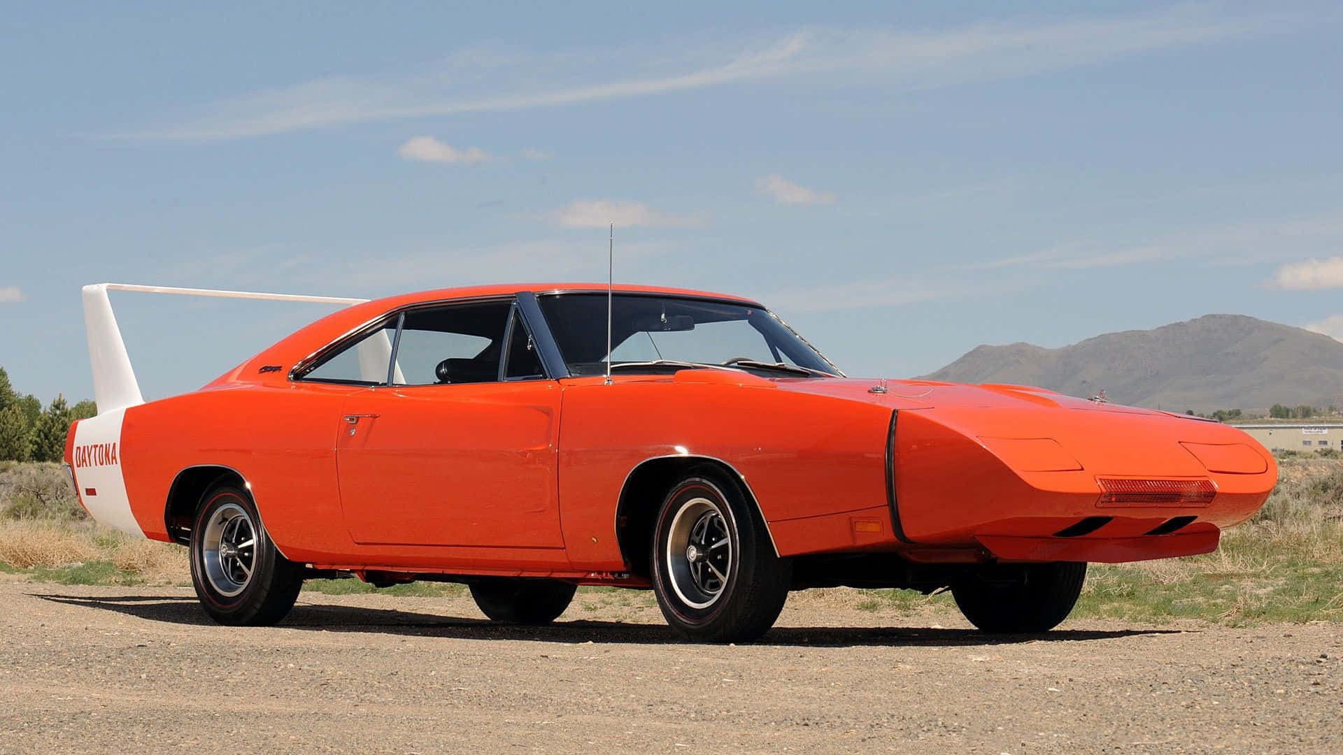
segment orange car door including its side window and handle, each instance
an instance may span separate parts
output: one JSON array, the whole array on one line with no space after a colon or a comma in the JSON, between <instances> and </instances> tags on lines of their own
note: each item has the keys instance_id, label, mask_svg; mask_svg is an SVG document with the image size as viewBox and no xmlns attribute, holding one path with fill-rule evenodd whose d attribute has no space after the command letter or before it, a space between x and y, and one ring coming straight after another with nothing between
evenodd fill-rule
<instances>
[{"instance_id":1,"label":"orange car door including its side window and handle","mask_svg":"<svg viewBox=\"0 0 1343 755\"><path fill-rule=\"evenodd\" d=\"M561 548L560 387L512 300L407 310L389 379L346 396L336 442L356 543Z\"/></svg>"}]
</instances>

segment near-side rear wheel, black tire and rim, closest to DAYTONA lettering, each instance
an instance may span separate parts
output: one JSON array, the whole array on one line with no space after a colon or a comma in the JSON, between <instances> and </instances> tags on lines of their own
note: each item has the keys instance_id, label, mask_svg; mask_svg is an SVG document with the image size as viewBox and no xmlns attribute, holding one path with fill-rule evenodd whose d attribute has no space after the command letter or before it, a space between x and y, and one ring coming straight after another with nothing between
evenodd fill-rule
<instances>
[{"instance_id":1,"label":"near-side rear wheel, black tire and rim, closest to DAYTONA lettering","mask_svg":"<svg viewBox=\"0 0 1343 755\"><path fill-rule=\"evenodd\" d=\"M205 614L216 622L270 626L294 607L304 572L275 549L251 496L222 485L210 489L196 509L191 582Z\"/></svg>"}]
</instances>

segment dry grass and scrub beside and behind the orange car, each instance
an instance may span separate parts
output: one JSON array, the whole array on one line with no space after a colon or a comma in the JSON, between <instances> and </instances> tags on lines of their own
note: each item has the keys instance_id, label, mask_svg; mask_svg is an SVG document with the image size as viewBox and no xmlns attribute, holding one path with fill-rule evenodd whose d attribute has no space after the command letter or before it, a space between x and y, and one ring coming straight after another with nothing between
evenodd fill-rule
<instances>
[{"instance_id":1,"label":"dry grass and scrub beside and behind the orange car","mask_svg":"<svg viewBox=\"0 0 1343 755\"><path fill-rule=\"evenodd\" d=\"M1074 617L1150 623L1194 619L1343 622L1343 459L1293 455L1280 461L1277 488L1250 521L1228 531L1215 553L1133 564L1093 564ZM58 463L0 462L0 576L66 584L189 584L181 545L141 540L95 525ZM308 590L372 592L353 579L313 580ZM383 592L455 594L454 584L412 583ZM954 613L947 594L841 590L858 610ZM618 602L653 605L643 592L584 588L577 610Z\"/></svg>"}]
</instances>

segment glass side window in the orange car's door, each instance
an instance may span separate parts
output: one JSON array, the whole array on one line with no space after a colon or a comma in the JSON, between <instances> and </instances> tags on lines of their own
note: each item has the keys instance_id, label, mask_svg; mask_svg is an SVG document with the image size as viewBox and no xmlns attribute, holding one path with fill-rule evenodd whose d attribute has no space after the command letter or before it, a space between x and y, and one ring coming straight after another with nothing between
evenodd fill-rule
<instances>
[{"instance_id":1,"label":"glass side window in the orange car's door","mask_svg":"<svg viewBox=\"0 0 1343 755\"><path fill-rule=\"evenodd\" d=\"M399 386L498 380L512 302L454 304L406 313L396 343Z\"/></svg>"}]
</instances>

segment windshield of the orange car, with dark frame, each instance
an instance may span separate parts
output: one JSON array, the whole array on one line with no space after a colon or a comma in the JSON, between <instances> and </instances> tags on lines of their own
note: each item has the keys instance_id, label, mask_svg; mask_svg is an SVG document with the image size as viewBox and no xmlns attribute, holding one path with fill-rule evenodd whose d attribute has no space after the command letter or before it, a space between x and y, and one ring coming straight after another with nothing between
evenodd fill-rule
<instances>
[{"instance_id":1,"label":"windshield of the orange car, with dark frame","mask_svg":"<svg viewBox=\"0 0 1343 755\"><path fill-rule=\"evenodd\" d=\"M541 310L571 375L606 372L606 294L549 294ZM837 375L770 312L696 298L615 294L611 368L665 372L727 364L776 376Z\"/></svg>"}]
</instances>

